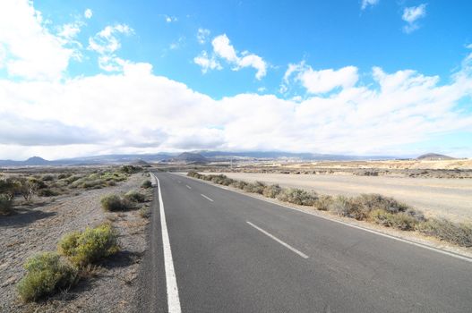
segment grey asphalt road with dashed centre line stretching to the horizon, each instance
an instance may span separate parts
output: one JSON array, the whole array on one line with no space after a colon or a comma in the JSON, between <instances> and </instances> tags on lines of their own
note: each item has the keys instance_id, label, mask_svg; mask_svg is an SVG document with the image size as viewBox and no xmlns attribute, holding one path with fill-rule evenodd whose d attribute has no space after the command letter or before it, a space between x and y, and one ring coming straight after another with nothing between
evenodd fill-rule
<instances>
[{"instance_id":1,"label":"grey asphalt road with dashed centre line stretching to the horizon","mask_svg":"<svg viewBox=\"0 0 472 313\"><path fill-rule=\"evenodd\" d=\"M467 260L176 174L157 177L164 206L156 190L137 311L472 311ZM168 290L172 275L176 290Z\"/></svg>"}]
</instances>

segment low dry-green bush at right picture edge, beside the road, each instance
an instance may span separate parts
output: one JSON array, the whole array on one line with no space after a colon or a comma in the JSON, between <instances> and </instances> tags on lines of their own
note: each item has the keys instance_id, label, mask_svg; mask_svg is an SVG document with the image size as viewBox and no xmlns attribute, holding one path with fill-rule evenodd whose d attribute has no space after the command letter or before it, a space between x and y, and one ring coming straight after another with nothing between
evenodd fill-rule
<instances>
[{"instance_id":1,"label":"low dry-green bush at right picture edge, beside the road","mask_svg":"<svg viewBox=\"0 0 472 313\"><path fill-rule=\"evenodd\" d=\"M445 219L431 218L418 224L416 230L461 247L472 247L471 224L453 223Z\"/></svg>"}]
</instances>

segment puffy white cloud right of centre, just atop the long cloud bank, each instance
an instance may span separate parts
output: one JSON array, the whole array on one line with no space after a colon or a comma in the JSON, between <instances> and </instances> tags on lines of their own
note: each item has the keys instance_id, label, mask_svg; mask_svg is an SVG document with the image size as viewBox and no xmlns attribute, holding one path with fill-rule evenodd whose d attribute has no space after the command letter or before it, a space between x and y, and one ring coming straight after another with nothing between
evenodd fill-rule
<instances>
[{"instance_id":1,"label":"puffy white cloud right of centre, just atop the long cloud bank","mask_svg":"<svg viewBox=\"0 0 472 313\"><path fill-rule=\"evenodd\" d=\"M285 72L282 93L287 91L289 80L295 74L295 80L302 83L305 89L312 94L330 92L336 88L349 89L356 85L359 79L355 66L346 66L339 70L327 69L314 71L305 62L288 64Z\"/></svg>"}]
</instances>

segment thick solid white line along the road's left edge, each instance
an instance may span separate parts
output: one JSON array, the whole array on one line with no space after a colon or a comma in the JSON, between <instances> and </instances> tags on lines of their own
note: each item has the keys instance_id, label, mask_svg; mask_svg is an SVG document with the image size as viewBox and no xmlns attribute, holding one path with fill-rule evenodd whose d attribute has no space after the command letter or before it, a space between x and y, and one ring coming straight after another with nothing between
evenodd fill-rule
<instances>
[{"instance_id":1,"label":"thick solid white line along the road's left edge","mask_svg":"<svg viewBox=\"0 0 472 313\"><path fill-rule=\"evenodd\" d=\"M170 250L170 241L168 239L164 202L162 201L162 192L160 191L159 178L156 175L154 175L154 177L158 181L159 188L159 213L160 228L162 229L162 247L164 250L164 267L166 270L167 308L169 313L180 313L181 309L180 300L178 297L176 271L174 270L174 261L172 260L172 251Z\"/></svg>"}]
</instances>

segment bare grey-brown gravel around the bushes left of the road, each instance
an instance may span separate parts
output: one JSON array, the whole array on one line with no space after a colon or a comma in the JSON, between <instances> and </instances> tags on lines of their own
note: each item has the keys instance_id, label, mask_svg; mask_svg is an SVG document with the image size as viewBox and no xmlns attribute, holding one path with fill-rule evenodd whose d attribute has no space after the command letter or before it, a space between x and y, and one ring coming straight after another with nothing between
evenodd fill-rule
<instances>
[{"instance_id":1,"label":"bare grey-brown gravel around the bushes left of the road","mask_svg":"<svg viewBox=\"0 0 472 313\"><path fill-rule=\"evenodd\" d=\"M144 179L137 173L115 187L78 190L78 195L60 196L53 202L35 199L36 205L29 209L0 216L0 312L130 311L137 291L135 278L146 249L148 220L136 210L105 213L99 200L110 193L137 190ZM151 190L147 192L150 198ZM27 258L39 251L56 250L57 241L65 233L103 222L111 222L120 233L122 251L102 263L95 277L46 301L23 304L18 300L15 283L24 274L22 264Z\"/></svg>"}]
</instances>

